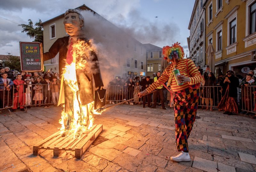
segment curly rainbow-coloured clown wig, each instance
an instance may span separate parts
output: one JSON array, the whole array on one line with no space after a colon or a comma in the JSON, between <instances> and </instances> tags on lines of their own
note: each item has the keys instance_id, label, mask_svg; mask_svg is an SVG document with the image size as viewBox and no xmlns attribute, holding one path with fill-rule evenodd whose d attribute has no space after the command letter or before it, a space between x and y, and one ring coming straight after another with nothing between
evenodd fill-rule
<instances>
[{"instance_id":1,"label":"curly rainbow-coloured clown wig","mask_svg":"<svg viewBox=\"0 0 256 172\"><path fill-rule=\"evenodd\" d=\"M180 46L180 43L176 42L172 44L172 46L165 46L163 47L163 55L164 59L166 60L167 58L169 59L177 59L180 60L184 57L184 50Z\"/></svg>"}]
</instances>

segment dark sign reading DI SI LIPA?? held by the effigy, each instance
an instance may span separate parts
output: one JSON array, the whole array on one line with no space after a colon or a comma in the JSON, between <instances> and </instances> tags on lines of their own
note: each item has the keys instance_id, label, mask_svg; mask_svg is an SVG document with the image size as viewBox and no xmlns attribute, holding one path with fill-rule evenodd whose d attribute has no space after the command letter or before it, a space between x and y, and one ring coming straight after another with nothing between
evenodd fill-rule
<instances>
[{"instance_id":1,"label":"dark sign reading DI SI LIPA?? held by the effigy","mask_svg":"<svg viewBox=\"0 0 256 172\"><path fill-rule=\"evenodd\" d=\"M41 42L20 42L21 71L43 71L43 48Z\"/></svg>"}]
</instances>

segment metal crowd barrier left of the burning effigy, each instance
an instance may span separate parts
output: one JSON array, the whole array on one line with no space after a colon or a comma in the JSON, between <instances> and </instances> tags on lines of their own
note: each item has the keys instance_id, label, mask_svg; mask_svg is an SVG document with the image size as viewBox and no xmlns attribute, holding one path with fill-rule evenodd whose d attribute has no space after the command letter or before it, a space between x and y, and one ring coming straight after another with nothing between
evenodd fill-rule
<instances>
[{"instance_id":1,"label":"metal crowd barrier left of the burning effigy","mask_svg":"<svg viewBox=\"0 0 256 172\"><path fill-rule=\"evenodd\" d=\"M3 86L4 90L0 90L0 113L2 113L2 110L7 109L9 110L11 108L19 108L19 107L24 107L25 110L27 111L28 106L42 106L42 105L50 105L50 104L57 104L58 99L59 99L59 93L55 96L55 103L52 99L52 87L53 85L48 85L48 84L26 84L29 89L30 93L28 93L28 89L25 89L23 87L23 90L20 90L20 87L14 88L12 86L12 89L5 90L5 87L3 84L0 84L0 86ZM39 86L40 88L35 88L35 86ZM35 88L35 89L34 89ZM14 90L17 90L17 92ZM39 93L39 94L36 94ZM36 97L38 98L38 101L34 101L33 98L37 95ZM18 102L15 103L15 102ZM15 104L17 105L15 105Z\"/></svg>"}]
</instances>

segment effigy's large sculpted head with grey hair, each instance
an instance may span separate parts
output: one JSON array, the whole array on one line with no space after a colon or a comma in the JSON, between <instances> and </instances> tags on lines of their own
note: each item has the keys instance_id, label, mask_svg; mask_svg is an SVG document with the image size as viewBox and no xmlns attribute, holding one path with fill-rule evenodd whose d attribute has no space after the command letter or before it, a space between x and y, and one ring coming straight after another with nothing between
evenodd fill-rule
<instances>
[{"instance_id":1,"label":"effigy's large sculpted head with grey hair","mask_svg":"<svg viewBox=\"0 0 256 172\"><path fill-rule=\"evenodd\" d=\"M65 30L69 36L78 36L84 26L84 17L76 9L68 9L64 14Z\"/></svg>"}]
</instances>

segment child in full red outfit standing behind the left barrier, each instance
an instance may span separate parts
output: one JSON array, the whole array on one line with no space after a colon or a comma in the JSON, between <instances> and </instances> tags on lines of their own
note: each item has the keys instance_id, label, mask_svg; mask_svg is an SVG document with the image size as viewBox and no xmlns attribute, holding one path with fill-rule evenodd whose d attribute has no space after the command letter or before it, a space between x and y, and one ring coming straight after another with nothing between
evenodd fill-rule
<instances>
[{"instance_id":1,"label":"child in full red outfit standing behind the left barrier","mask_svg":"<svg viewBox=\"0 0 256 172\"><path fill-rule=\"evenodd\" d=\"M24 111L23 105L25 105L25 89L27 88L26 82L21 80L21 74L17 74L17 79L13 81L14 83L14 99L12 112L15 112L20 105L20 110Z\"/></svg>"}]
</instances>

